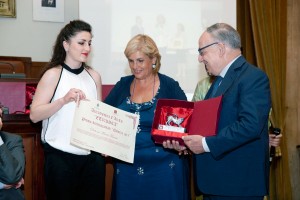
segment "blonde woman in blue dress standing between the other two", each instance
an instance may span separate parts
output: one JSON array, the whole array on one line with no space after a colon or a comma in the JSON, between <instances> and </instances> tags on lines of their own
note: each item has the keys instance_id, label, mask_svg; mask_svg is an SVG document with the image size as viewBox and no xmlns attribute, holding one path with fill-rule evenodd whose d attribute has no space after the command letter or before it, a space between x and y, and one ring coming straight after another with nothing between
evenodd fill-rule
<instances>
[{"instance_id":1,"label":"blonde woman in blue dress standing between the other two","mask_svg":"<svg viewBox=\"0 0 300 200\"><path fill-rule=\"evenodd\" d=\"M190 199L188 158L151 138L157 100L186 100L186 96L177 81L159 73L161 55L149 36L133 37L124 53L132 75L122 77L105 102L139 114L140 121L134 163L115 160L112 199Z\"/></svg>"}]
</instances>

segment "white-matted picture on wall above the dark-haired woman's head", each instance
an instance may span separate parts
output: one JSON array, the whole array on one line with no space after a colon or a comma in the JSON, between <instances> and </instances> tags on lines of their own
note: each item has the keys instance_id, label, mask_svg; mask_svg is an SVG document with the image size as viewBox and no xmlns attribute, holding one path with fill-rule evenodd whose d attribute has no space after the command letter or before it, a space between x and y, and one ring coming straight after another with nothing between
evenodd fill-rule
<instances>
[{"instance_id":1,"label":"white-matted picture on wall above the dark-haired woman's head","mask_svg":"<svg viewBox=\"0 0 300 200\"><path fill-rule=\"evenodd\" d=\"M64 22L64 1L33 0L33 20Z\"/></svg>"}]
</instances>

